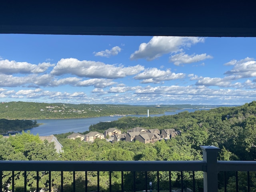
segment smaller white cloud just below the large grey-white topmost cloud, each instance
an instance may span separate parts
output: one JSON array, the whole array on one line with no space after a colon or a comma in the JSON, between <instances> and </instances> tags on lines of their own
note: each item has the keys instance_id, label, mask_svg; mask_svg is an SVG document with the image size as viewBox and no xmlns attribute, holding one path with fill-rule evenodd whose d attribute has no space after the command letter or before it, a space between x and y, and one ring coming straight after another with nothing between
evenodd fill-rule
<instances>
[{"instance_id":1,"label":"smaller white cloud just below the large grey-white topmost cloud","mask_svg":"<svg viewBox=\"0 0 256 192\"><path fill-rule=\"evenodd\" d=\"M213 57L210 55L207 55L206 53L203 54L192 54L188 55L185 54L184 52L181 52L179 54L175 54L170 56L169 61L173 62L174 65L179 66L180 64L188 64L188 63L194 63L194 62L199 62L205 59L212 59Z\"/></svg>"}]
</instances>

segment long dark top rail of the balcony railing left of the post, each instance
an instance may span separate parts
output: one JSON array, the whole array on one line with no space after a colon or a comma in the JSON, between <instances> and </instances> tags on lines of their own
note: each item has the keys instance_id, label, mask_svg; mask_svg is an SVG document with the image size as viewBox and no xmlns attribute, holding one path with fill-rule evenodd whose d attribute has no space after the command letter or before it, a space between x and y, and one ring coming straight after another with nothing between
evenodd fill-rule
<instances>
[{"instance_id":1,"label":"long dark top rail of the balcony railing left of the post","mask_svg":"<svg viewBox=\"0 0 256 192\"><path fill-rule=\"evenodd\" d=\"M205 171L204 161L0 161L0 171Z\"/></svg>"}]
</instances>

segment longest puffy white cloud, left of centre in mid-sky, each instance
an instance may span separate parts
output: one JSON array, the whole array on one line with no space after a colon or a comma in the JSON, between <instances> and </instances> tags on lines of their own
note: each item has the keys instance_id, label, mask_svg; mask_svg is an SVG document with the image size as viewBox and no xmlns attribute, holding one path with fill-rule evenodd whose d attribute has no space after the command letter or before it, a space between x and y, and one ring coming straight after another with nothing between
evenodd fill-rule
<instances>
[{"instance_id":1,"label":"longest puffy white cloud, left of centre in mid-sky","mask_svg":"<svg viewBox=\"0 0 256 192\"><path fill-rule=\"evenodd\" d=\"M51 74L74 74L79 77L89 78L123 78L137 74L144 70L141 65L124 67L123 65L110 65L95 61L79 61L75 58L61 59L53 68Z\"/></svg>"}]
</instances>

